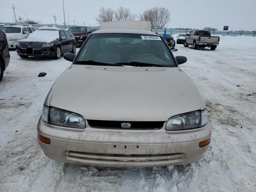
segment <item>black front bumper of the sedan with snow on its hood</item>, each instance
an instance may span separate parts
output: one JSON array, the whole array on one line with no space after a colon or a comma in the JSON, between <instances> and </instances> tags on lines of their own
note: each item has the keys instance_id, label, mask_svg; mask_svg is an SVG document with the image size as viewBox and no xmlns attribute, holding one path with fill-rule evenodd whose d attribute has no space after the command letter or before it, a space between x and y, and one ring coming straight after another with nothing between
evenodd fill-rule
<instances>
[{"instance_id":1,"label":"black front bumper of the sedan with snow on its hood","mask_svg":"<svg viewBox=\"0 0 256 192\"><path fill-rule=\"evenodd\" d=\"M55 46L52 47L42 47L39 50L33 50L33 54L26 54L26 49L16 46L16 52L18 55L22 56L44 56L44 57L54 57L55 55Z\"/></svg>"}]
</instances>

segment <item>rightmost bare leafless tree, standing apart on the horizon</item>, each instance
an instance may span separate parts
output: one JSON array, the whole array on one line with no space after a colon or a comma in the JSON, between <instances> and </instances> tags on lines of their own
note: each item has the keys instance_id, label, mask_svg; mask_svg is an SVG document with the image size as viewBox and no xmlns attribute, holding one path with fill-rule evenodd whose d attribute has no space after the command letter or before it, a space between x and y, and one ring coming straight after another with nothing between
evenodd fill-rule
<instances>
[{"instance_id":1,"label":"rightmost bare leafless tree, standing apart on the horizon","mask_svg":"<svg viewBox=\"0 0 256 192\"><path fill-rule=\"evenodd\" d=\"M170 12L164 7L154 7L144 11L139 16L140 20L150 21L152 28L164 28L170 22Z\"/></svg>"}]
</instances>

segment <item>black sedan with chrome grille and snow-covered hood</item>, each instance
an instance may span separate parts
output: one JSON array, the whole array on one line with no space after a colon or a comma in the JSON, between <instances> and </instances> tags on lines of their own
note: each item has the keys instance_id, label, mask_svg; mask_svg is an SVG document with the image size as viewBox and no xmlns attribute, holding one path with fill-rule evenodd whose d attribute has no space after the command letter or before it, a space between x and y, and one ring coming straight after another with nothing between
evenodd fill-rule
<instances>
[{"instance_id":1,"label":"black sedan with chrome grille and snow-covered hood","mask_svg":"<svg viewBox=\"0 0 256 192\"><path fill-rule=\"evenodd\" d=\"M70 32L61 29L39 29L16 44L21 58L44 56L59 59L66 52L76 53L76 39Z\"/></svg>"}]
</instances>

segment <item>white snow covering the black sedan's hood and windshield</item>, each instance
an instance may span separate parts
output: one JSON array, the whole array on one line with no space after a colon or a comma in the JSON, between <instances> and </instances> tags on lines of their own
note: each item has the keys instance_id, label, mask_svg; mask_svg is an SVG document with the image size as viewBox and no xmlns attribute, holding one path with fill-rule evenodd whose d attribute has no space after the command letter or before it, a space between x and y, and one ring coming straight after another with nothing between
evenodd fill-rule
<instances>
[{"instance_id":1,"label":"white snow covering the black sedan's hood and windshield","mask_svg":"<svg viewBox=\"0 0 256 192\"><path fill-rule=\"evenodd\" d=\"M36 30L27 38L20 40L20 42L46 42L50 43L60 38L59 31L52 30Z\"/></svg>"}]
</instances>

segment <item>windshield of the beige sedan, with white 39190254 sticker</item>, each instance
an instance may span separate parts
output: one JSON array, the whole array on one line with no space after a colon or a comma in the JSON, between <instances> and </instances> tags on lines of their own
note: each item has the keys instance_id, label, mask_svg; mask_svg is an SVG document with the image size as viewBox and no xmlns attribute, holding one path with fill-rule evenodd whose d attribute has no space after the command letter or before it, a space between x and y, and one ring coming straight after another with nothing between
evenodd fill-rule
<instances>
[{"instance_id":1,"label":"windshield of the beige sedan, with white 39190254 sticker","mask_svg":"<svg viewBox=\"0 0 256 192\"><path fill-rule=\"evenodd\" d=\"M159 36L142 34L92 34L74 64L90 62L176 67L170 50Z\"/></svg>"}]
</instances>

